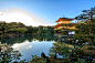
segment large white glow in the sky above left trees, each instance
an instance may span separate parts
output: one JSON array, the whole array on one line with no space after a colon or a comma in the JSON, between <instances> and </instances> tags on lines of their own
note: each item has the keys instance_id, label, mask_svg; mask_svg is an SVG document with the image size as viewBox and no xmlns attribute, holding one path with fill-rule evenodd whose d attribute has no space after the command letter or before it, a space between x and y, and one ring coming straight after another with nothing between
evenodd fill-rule
<instances>
[{"instance_id":1,"label":"large white glow in the sky above left trees","mask_svg":"<svg viewBox=\"0 0 95 63\"><path fill-rule=\"evenodd\" d=\"M39 17L21 9L8 9L0 11L0 21L22 22L25 25L33 25L33 27L51 25L48 21L42 20Z\"/></svg>"}]
</instances>

